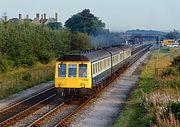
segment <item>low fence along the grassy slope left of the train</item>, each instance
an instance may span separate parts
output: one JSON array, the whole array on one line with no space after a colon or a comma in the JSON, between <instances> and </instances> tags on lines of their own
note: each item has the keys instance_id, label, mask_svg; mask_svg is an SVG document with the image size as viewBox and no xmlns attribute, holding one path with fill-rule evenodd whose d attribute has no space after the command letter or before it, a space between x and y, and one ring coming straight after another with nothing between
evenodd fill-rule
<instances>
[{"instance_id":1,"label":"low fence along the grassy slope left of the train","mask_svg":"<svg viewBox=\"0 0 180 127\"><path fill-rule=\"evenodd\" d=\"M0 98L39 83L53 80L54 67L49 66L43 69L28 70L18 74L8 75L8 77L10 78L0 77Z\"/></svg>"}]
</instances>

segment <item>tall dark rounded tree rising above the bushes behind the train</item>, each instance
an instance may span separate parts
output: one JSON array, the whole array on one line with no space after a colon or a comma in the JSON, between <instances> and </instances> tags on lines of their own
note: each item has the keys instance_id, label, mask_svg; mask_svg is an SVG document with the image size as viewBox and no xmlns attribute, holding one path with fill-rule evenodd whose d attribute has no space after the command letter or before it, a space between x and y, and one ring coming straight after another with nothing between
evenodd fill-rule
<instances>
[{"instance_id":1,"label":"tall dark rounded tree rising above the bushes behind the train","mask_svg":"<svg viewBox=\"0 0 180 127\"><path fill-rule=\"evenodd\" d=\"M65 22L65 26L73 32L96 35L104 31L105 23L90 13L89 9L73 15Z\"/></svg>"}]
</instances>

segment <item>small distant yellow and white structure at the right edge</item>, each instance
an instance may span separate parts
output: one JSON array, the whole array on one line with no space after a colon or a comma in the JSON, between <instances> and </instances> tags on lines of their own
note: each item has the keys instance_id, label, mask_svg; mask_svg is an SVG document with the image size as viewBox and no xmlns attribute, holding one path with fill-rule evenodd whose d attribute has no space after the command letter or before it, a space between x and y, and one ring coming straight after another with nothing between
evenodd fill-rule
<instances>
[{"instance_id":1,"label":"small distant yellow and white structure at the right edge","mask_svg":"<svg viewBox=\"0 0 180 127\"><path fill-rule=\"evenodd\" d=\"M167 46L167 47L170 47L170 48L179 47L179 42L175 41L175 40L171 40L171 39L163 40L161 42L161 44L162 44L162 46Z\"/></svg>"}]
</instances>

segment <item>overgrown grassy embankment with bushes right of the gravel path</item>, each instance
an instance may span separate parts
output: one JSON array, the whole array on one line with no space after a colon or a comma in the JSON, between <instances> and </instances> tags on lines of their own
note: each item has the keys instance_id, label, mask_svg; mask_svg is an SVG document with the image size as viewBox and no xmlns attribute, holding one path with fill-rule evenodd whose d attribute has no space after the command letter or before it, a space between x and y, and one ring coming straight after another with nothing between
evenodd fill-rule
<instances>
[{"instance_id":1,"label":"overgrown grassy embankment with bushes right of the gravel path","mask_svg":"<svg viewBox=\"0 0 180 127\"><path fill-rule=\"evenodd\" d=\"M153 53L114 127L180 125L179 59L180 49L163 47Z\"/></svg>"}]
</instances>

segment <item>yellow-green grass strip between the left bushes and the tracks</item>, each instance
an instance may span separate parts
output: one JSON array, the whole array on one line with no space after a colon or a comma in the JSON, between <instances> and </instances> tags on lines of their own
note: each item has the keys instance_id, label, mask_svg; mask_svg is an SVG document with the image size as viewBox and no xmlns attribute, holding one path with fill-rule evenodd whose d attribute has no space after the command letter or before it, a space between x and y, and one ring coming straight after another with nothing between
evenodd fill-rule
<instances>
[{"instance_id":1,"label":"yellow-green grass strip between the left bushes and the tracks","mask_svg":"<svg viewBox=\"0 0 180 127\"><path fill-rule=\"evenodd\" d=\"M31 68L18 68L0 74L0 99L18 93L40 83L53 80L54 61L49 64L37 63Z\"/></svg>"}]
</instances>

